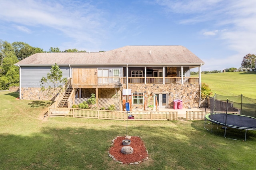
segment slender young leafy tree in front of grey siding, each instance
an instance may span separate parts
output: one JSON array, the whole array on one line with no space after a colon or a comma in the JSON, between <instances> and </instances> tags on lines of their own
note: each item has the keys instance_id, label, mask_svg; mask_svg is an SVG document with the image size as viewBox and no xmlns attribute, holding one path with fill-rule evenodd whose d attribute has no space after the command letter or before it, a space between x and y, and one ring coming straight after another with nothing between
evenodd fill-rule
<instances>
[{"instance_id":1,"label":"slender young leafy tree in front of grey siding","mask_svg":"<svg viewBox=\"0 0 256 170\"><path fill-rule=\"evenodd\" d=\"M59 91L63 90L62 86L66 84L67 78L62 79L62 71L60 70L60 66L56 63L52 65L50 69L50 73L47 73L47 77L42 77L40 81L41 91L46 91L48 97L52 97L56 99L56 95ZM45 85L47 87L45 87Z\"/></svg>"}]
</instances>

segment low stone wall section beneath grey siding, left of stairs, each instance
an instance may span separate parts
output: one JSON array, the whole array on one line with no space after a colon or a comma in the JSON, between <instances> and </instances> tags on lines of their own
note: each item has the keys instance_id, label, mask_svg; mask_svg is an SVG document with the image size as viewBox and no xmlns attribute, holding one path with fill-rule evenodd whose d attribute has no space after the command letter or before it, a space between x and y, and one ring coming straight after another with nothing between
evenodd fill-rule
<instances>
[{"instance_id":1,"label":"low stone wall section beneath grey siding, left of stairs","mask_svg":"<svg viewBox=\"0 0 256 170\"><path fill-rule=\"evenodd\" d=\"M24 100L51 100L52 97L47 97L46 92L40 91L40 87L22 87L21 88L21 99Z\"/></svg>"}]
</instances>

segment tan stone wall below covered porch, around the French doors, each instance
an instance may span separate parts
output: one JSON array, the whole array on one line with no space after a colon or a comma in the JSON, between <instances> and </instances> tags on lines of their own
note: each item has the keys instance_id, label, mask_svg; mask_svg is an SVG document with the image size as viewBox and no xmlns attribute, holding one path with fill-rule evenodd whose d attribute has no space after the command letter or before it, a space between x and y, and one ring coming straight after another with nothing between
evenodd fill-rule
<instances>
[{"instance_id":1,"label":"tan stone wall below covered porch, around the French doors","mask_svg":"<svg viewBox=\"0 0 256 170\"><path fill-rule=\"evenodd\" d=\"M182 99L183 108L198 108L199 105L199 84L129 84L128 89L132 93L168 93L168 108L173 108L175 99ZM135 107L135 106L134 106ZM138 108L144 105L136 106Z\"/></svg>"}]
</instances>

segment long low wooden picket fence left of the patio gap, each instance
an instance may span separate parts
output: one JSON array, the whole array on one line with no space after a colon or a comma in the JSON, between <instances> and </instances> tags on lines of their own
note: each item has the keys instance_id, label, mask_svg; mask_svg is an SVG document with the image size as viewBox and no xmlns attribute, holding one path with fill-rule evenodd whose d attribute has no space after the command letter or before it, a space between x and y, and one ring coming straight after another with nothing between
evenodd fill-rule
<instances>
[{"instance_id":1,"label":"long low wooden picket fence left of the patio gap","mask_svg":"<svg viewBox=\"0 0 256 170\"><path fill-rule=\"evenodd\" d=\"M77 108L49 108L49 116L66 116L80 117L91 119L109 119L109 120L127 120L129 115L133 115L134 119L140 121L174 121L178 120L178 111L106 111L106 110L91 110Z\"/></svg>"}]
</instances>

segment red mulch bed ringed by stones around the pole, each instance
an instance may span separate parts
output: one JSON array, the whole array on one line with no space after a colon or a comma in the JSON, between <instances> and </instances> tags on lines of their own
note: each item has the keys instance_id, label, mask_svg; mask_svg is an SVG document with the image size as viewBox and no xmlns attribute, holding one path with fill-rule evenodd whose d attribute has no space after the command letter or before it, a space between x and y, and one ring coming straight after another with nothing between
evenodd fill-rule
<instances>
[{"instance_id":1,"label":"red mulch bed ringed by stones around the pole","mask_svg":"<svg viewBox=\"0 0 256 170\"><path fill-rule=\"evenodd\" d=\"M129 140L131 140L131 146L133 148L132 154L123 154L121 152L122 140L126 139L125 136L118 136L114 140L114 145L110 148L109 154L114 156L116 160L123 162L123 164L129 164L131 162L140 162L143 160L147 160L148 153L146 151L146 147L144 142L138 136L131 136Z\"/></svg>"}]
</instances>

